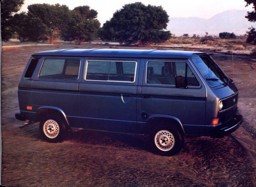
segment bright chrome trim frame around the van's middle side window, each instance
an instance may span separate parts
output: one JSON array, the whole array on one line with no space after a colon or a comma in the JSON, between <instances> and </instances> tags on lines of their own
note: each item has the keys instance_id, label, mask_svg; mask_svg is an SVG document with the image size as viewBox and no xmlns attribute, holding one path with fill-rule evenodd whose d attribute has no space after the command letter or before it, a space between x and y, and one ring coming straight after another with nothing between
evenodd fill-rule
<instances>
[{"instance_id":1,"label":"bright chrome trim frame around the van's middle side window","mask_svg":"<svg viewBox=\"0 0 256 187\"><path fill-rule=\"evenodd\" d=\"M134 72L134 79L133 79L133 82L131 81L118 81L118 80L87 80L86 79L86 75L87 75L87 68L88 68L88 61L108 61L108 62L111 62L111 61L114 61L114 62L135 62L135 72ZM84 71L84 81L92 81L92 82L105 82L105 83L127 83L127 84L133 84L135 83L135 80L136 80L136 73L137 73L137 66L138 66L138 62L136 60L95 60L95 59L87 59L86 60L86 67L85 67L85 71Z\"/></svg>"}]
</instances>

